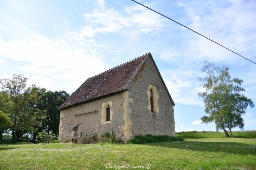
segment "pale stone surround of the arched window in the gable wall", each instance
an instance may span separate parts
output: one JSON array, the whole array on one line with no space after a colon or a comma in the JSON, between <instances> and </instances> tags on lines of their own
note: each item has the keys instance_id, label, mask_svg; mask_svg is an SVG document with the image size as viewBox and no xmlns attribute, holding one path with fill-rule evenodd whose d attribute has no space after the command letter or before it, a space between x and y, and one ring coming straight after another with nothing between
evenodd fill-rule
<instances>
[{"instance_id":1,"label":"pale stone surround of the arched window in the gable wall","mask_svg":"<svg viewBox=\"0 0 256 170\"><path fill-rule=\"evenodd\" d=\"M150 90L153 93L153 112L154 113L158 113L159 112L159 107L158 107L158 99L159 99L159 95L157 93L157 88L151 84L148 85L148 91L147 91L147 95L148 95L148 110L151 111L151 103L150 103Z\"/></svg>"}]
</instances>

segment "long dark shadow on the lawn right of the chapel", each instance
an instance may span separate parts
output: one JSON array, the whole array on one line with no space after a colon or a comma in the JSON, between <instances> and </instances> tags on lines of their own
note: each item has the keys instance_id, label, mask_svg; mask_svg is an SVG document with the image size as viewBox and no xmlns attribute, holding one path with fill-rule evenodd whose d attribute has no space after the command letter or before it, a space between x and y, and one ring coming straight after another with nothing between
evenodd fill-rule
<instances>
[{"instance_id":1,"label":"long dark shadow on the lawn right of the chapel","mask_svg":"<svg viewBox=\"0 0 256 170\"><path fill-rule=\"evenodd\" d=\"M193 151L209 151L239 155L256 155L256 145L248 145L237 142L158 142L141 145L160 146Z\"/></svg>"}]
</instances>

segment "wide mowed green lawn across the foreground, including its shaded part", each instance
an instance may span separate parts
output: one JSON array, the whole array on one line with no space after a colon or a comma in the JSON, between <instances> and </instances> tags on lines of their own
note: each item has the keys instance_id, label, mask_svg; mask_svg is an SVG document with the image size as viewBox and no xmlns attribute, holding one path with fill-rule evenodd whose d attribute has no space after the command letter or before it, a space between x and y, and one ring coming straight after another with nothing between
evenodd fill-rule
<instances>
[{"instance_id":1,"label":"wide mowed green lawn across the foreground, including its shaded part","mask_svg":"<svg viewBox=\"0 0 256 170\"><path fill-rule=\"evenodd\" d=\"M203 138L144 145L0 145L0 169L256 169L256 139ZM131 169L129 167L129 169Z\"/></svg>"}]
</instances>

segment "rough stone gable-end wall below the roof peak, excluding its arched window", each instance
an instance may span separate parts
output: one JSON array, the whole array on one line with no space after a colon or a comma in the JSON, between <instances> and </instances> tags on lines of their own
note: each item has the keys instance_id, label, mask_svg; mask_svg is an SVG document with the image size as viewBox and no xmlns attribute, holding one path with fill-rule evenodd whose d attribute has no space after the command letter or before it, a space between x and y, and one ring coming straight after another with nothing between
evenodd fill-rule
<instances>
[{"instance_id":1,"label":"rough stone gable-end wall below the roof peak, excluding its arched window","mask_svg":"<svg viewBox=\"0 0 256 170\"><path fill-rule=\"evenodd\" d=\"M151 112L148 105L147 91L150 85L156 88L158 94L156 100L159 110L155 112ZM175 136L173 105L151 58L130 86L129 97L133 99L133 103L130 103L132 137L138 134Z\"/></svg>"}]
</instances>

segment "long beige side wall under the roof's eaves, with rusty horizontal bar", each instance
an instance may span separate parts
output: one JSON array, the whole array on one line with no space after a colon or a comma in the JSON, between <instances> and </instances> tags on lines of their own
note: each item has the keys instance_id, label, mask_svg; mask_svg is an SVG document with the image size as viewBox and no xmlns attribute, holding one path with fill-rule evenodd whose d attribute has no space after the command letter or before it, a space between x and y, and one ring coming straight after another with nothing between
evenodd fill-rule
<instances>
[{"instance_id":1,"label":"long beige side wall under the roof's eaves, with rusty horizontal bar","mask_svg":"<svg viewBox=\"0 0 256 170\"><path fill-rule=\"evenodd\" d=\"M113 110L111 123L102 124L102 103L112 102L111 110ZM124 131L122 131L122 127L124 125L123 120L123 106L124 103L123 93L116 94L113 96L109 96L106 98L94 100L92 102L80 104L77 106L72 106L68 108L64 108L61 110L60 114L60 125L59 125L59 140L66 140L69 130L71 129L68 135L68 141L71 141L72 138L72 127L75 126L76 123L79 123L78 133L80 131L89 134L86 137L86 141L89 141L91 130L93 129L93 133L97 133L99 129L99 133L97 139L101 138L101 133L104 130L110 130L113 128L114 133L116 134L116 138L121 138L124 136ZM86 113L98 110L97 112L92 112L88 114L82 114L75 116L76 114ZM79 141L79 140L78 140Z\"/></svg>"}]
</instances>

